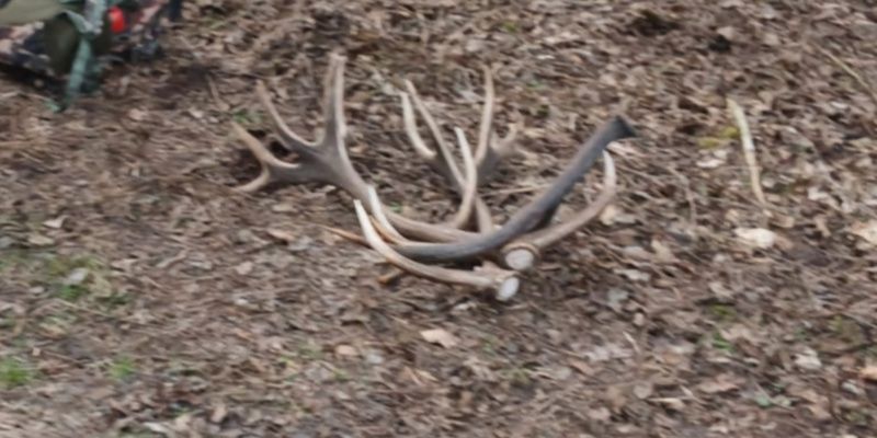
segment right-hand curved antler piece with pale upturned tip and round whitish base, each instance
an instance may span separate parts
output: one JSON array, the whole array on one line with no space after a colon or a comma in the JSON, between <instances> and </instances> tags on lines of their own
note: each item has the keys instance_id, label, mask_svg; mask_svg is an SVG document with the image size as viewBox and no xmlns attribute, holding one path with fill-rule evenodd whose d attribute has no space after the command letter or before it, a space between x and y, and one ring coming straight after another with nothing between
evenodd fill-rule
<instances>
[{"instance_id":1,"label":"right-hand curved antler piece with pale upturned tip and round whitish base","mask_svg":"<svg viewBox=\"0 0 877 438\"><path fill-rule=\"evenodd\" d=\"M546 247L584 227L612 203L617 193L617 176L615 163L608 151L603 152L603 189L596 199L567 220L553 227L524 234L506 244L502 249L502 258L505 266L519 272L532 268Z\"/></svg>"}]
</instances>

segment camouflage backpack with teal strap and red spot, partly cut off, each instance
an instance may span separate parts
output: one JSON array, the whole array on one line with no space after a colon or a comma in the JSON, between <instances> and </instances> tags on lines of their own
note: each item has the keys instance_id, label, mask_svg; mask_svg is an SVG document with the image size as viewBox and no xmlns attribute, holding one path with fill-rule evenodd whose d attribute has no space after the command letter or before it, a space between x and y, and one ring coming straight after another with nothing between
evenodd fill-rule
<instances>
[{"instance_id":1,"label":"camouflage backpack with teal strap and red spot, partly cut off","mask_svg":"<svg viewBox=\"0 0 877 438\"><path fill-rule=\"evenodd\" d=\"M182 0L0 0L0 65L66 79L64 110L100 88L107 58L151 58Z\"/></svg>"}]
</instances>

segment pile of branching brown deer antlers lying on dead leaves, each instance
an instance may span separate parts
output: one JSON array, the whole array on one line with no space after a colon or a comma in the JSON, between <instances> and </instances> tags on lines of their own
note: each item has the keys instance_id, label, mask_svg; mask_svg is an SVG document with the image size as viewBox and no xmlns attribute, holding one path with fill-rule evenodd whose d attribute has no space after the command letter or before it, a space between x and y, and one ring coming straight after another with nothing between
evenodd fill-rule
<instances>
[{"instance_id":1,"label":"pile of branching brown deer antlers lying on dead leaves","mask_svg":"<svg viewBox=\"0 0 877 438\"><path fill-rule=\"evenodd\" d=\"M263 82L257 95L267 111L274 134L285 149L295 153L297 163L280 160L262 142L232 122L237 137L250 149L261 164L253 181L239 186L242 192L257 192L269 184L330 184L353 197L363 237L338 229L333 232L371 246L402 272L434 281L464 285L490 290L500 300L512 298L519 290L519 273L531 269L542 252L551 244L583 227L612 201L616 193L615 166L606 150L613 141L635 137L634 129L617 116L603 125L567 164L554 183L539 193L509 220L497 227L478 188L487 182L498 164L515 152L515 130L497 138L493 122L493 81L485 74L485 106L478 143L472 150L465 134L455 129L463 170L411 82L401 92L405 128L414 151L441 173L457 192L460 204L453 219L430 223L398 215L386 208L375 188L356 172L344 145L346 123L343 112L345 58L331 55L326 81L324 127L317 141L307 141L293 132L283 122ZM413 102L413 107L412 107ZM414 108L426 122L437 151L421 138ZM599 157L603 158L603 188L586 208L557 223L554 214L563 197L584 176ZM443 265L477 264L474 269Z\"/></svg>"}]
</instances>

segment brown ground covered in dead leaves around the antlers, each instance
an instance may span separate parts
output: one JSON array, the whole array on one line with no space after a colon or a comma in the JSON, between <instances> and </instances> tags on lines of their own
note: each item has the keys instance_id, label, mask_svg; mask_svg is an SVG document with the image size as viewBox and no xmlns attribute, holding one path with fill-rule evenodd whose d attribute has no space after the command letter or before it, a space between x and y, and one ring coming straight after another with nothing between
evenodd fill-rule
<instances>
[{"instance_id":1,"label":"brown ground covered in dead leaves around the antlers","mask_svg":"<svg viewBox=\"0 0 877 438\"><path fill-rule=\"evenodd\" d=\"M0 80L0 437L877 435L873 1L337 3L189 2L164 59L64 114ZM379 284L320 228L358 231L345 194L231 189L255 81L309 135L333 50L351 157L403 212L455 200L396 90L474 138L482 64L525 126L493 211L624 112L617 201L510 302Z\"/></svg>"}]
</instances>

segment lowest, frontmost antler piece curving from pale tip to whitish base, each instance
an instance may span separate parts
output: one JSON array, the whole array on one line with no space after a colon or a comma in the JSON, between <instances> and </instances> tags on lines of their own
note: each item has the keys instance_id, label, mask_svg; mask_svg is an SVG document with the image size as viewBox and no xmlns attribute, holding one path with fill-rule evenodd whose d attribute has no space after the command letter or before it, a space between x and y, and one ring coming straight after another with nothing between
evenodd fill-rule
<instances>
[{"instance_id":1,"label":"lowest, frontmost antler piece curving from pale tip to whitish base","mask_svg":"<svg viewBox=\"0 0 877 438\"><path fill-rule=\"evenodd\" d=\"M366 212L365 207L363 207L361 200L354 200L353 206L356 209L356 218L360 221L360 227L363 229L363 234L365 235L365 240L368 242L368 245L378 254L384 256L384 258L394 266L414 276L426 278L433 281L470 286L480 290L491 290L500 300L508 300L517 292L521 280L511 270L485 269L480 273L475 273L462 269L451 269L441 266L424 265L407 258L384 242L384 240L380 238L380 234L378 234L377 230L375 230L372 221L369 220L368 214ZM379 203L372 206L374 211L380 211L381 208L383 207Z\"/></svg>"}]
</instances>

